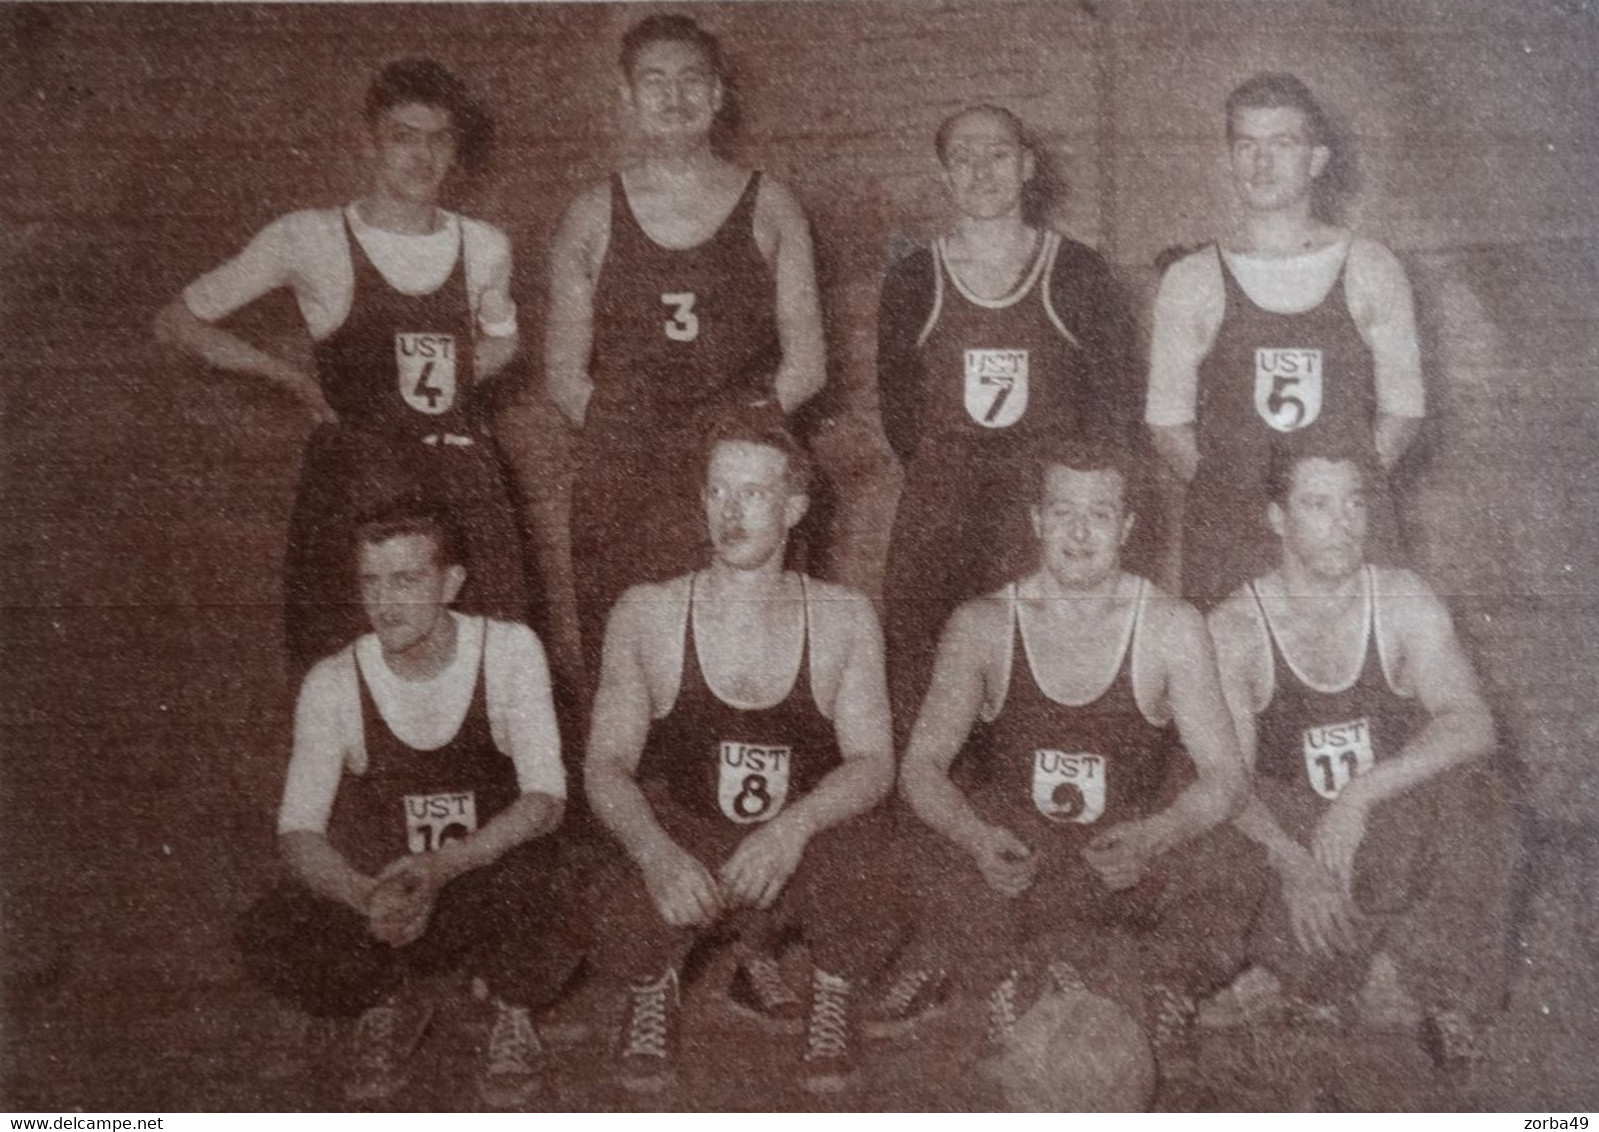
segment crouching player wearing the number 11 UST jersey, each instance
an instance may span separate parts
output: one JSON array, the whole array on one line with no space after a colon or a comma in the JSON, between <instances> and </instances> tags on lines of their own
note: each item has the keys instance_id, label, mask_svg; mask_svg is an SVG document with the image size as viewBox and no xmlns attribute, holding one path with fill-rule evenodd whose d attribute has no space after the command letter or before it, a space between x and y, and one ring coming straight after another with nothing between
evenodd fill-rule
<instances>
[{"instance_id":1,"label":"crouching player wearing the number 11 UST jersey","mask_svg":"<svg viewBox=\"0 0 1599 1132\"><path fill-rule=\"evenodd\" d=\"M1238 827L1279 884L1255 967L1207 1010L1354 994L1375 1026L1426 1023L1441 1060L1503 991L1508 823L1493 721L1442 603L1364 563L1369 460L1279 449L1266 520L1281 566L1210 616L1254 795Z\"/></svg>"}]
</instances>

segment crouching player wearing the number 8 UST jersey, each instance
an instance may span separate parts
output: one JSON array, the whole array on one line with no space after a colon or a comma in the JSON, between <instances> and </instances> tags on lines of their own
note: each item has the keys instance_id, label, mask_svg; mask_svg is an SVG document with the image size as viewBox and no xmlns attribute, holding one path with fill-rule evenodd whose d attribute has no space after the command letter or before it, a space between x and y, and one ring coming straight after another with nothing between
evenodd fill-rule
<instances>
[{"instance_id":1,"label":"crouching player wearing the number 8 UST jersey","mask_svg":"<svg viewBox=\"0 0 1599 1132\"><path fill-rule=\"evenodd\" d=\"M598 918L630 985L620 1081L673 1079L697 935L793 927L814 963L804 1084L839 1089L851 991L894 945L867 817L894 780L883 646L865 596L784 571L807 502L793 438L729 417L707 454L712 563L617 603L588 737L588 799L627 854Z\"/></svg>"}]
</instances>

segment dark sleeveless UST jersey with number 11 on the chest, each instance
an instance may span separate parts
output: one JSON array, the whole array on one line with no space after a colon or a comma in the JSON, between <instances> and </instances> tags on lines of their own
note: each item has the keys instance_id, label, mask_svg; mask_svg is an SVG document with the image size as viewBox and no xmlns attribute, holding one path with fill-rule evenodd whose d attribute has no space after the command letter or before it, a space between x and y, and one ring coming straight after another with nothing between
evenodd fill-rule
<instances>
[{"instance_id":1,"label":"dark sleeveless UST jersey with number 11 on the chest","mask_svg":"<svg viewBox=\"0 0 1599 1132\"><path fill-rule=\"evenodd\" d=\"M1414 696L1394 691L1383 667L1377 588L1366 568L1366 644L1354 678L1337 689L1316 688L1294 668L1250 584L1271 649L1271 702L1255 716L1255 774L1314 791L1322 807L1350 779L1393 758L1426 726Z\"/></svg>"}]
</instances>

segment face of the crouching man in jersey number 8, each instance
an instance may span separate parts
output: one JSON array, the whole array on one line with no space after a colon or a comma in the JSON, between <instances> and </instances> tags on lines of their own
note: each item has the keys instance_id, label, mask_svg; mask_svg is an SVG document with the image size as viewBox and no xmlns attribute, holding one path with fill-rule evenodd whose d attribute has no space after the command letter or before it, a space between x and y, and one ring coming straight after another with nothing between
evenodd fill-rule
<instances>
[{"instance_id":1,"label":"face of the crouching man in jersey number 8","mask_svg":"<svg viewBox=\"0 0 1599 1132\"><path fill-rule=\"evenodd\" d=\"M756 569L788 544L806 497L792 491L788 457L776 448L724 441L705 472L705 524L718 561Z\"/></svg>"}]
</instances>

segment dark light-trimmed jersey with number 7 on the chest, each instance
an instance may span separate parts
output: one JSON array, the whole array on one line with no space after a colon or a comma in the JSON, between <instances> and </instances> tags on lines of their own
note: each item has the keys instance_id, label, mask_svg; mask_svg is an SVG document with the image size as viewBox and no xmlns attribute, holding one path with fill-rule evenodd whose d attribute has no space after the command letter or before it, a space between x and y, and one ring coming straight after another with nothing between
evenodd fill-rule
<instances>
[{"instance_id":1,"label":"dark light-trimmed jersey with number 7 on the chest","mask_svg":"<svg viewBox=\"0 0 1599 1132\"><path fill-rule=\"evenodd\" d=\"M963 441L1009 454L1039 436L1071 436L1084 416L1083 350L1051 305L1060 235L1009 294L980 299L955 277L937 240L934 304L918 336L924 441Z\"/></svg>"}]
</instances>

